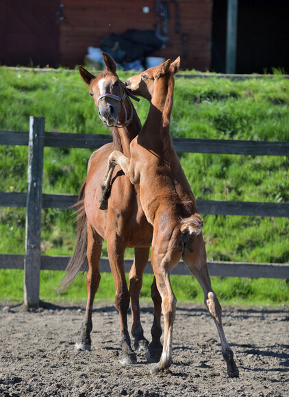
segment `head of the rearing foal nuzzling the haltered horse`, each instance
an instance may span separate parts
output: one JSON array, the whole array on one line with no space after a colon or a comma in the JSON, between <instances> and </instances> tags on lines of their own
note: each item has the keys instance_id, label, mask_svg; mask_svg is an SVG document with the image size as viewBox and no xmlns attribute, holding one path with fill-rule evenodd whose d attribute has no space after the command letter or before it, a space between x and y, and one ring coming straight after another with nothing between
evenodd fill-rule
<instances>
[{"instance_id":1,"label":"head of the rearing foal nuzzling the haltered horse","mask_svg":"<svg viewBox=\"0 0 289 397\"><path fill-rule=\"evenodd\" d=\"M174 62L166 60L159 66L147 69L139 75L130 77L125 81L125 86L134 95L151 101L155 89L155 82L165 75L175 75L179 70L181 58L177 57Z\"/></svg>"}]
</instances>

